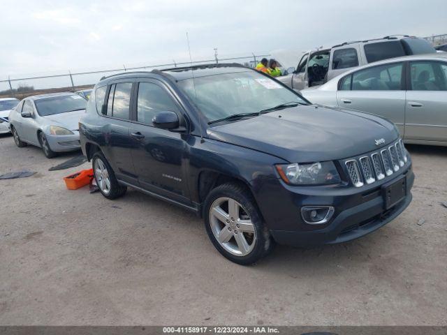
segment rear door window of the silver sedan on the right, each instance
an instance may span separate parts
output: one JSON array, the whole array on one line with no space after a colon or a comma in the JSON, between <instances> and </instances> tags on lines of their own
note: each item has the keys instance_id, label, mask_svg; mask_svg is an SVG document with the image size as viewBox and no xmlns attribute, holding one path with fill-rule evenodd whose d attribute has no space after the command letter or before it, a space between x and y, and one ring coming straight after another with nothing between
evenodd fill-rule
<instances>
[{"instance_id":1,"label":"rear door window of the silver sedan on the right","mask_svg":"<svg viewBox=\"0 0 447 335\"><path fill-rule=\"evenodd\" d=\"M402 89L402 63L374 66L353 73L353 91L398 91Z\"/></svg>"}]
</instances>

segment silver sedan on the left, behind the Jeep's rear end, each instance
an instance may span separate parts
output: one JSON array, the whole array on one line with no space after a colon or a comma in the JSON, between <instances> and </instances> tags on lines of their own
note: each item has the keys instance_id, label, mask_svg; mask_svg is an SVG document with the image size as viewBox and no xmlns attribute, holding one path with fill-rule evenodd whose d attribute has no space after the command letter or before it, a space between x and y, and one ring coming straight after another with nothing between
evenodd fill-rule
<instances>
[{"instance_id":1,"label":"silver sedan on the left, behind the Jeep's rear end","mask_svg":"<svg viewBox=\"0 0 447 335\"><path fill-rule=\"evenodd\" d=\"M9 122L17 147L41 147L47 158L80 149L78 121L87 101L78 94L29 96L11 110Z\"/></svg>"}]
</instances>

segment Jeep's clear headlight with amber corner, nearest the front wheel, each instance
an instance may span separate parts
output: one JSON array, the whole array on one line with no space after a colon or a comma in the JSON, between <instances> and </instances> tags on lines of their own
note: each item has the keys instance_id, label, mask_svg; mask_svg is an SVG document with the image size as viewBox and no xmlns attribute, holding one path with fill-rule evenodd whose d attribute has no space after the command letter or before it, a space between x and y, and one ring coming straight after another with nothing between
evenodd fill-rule
<instances>
[{"instance_id":1,"label":"Jeep's clear headlight with amber corner, nearest the front wheel","mask_svg":"<svg viewBox=\"0 0 447 335\"><path fill-rule=\"evenodd\" d=\"M281 179L291 185L338 184L341 181L337 168L332 162L278 164L275 166Z\"/></svg>"}]
</instances>

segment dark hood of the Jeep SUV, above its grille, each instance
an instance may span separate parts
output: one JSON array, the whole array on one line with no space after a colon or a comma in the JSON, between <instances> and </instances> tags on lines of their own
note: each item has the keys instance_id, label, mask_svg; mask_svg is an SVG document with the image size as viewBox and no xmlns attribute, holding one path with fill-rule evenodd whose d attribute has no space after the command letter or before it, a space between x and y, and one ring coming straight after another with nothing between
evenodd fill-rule
<instances>
[{"instance_id":1,"label":"dark hood of the Jeep SUV, above its grille","mask_svg":"<svg viewBox=\"0 0 447 335\"><path fill-rule=\"evenodd\" d=\"M208 129L214 140L248 147L291 163L334 161L393 142L394 124L372 114L300 105Z\"/></svg>"}]
</instances>

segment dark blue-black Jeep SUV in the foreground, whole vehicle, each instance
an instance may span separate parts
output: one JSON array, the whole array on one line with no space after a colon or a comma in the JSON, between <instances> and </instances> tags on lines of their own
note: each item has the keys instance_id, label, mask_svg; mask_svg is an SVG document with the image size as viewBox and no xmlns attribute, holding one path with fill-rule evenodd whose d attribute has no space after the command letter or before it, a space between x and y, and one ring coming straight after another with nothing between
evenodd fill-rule
<instances>
[{"instance_id":1,"label":"dark blue-black Jeep SUV in the foreground, whole vehicle","mask_svg":"<svg viewBox=\"0 0 447 335\"><path fill-rule=\"evenodd\" d=\"M240 264L276 241L356 239L411 202L413 172L394 124L312 105L235 64L112 75L80 121L101 193L132 186L196 212Z\"/></svg>"}]
</instances>

